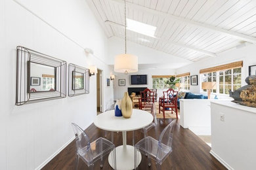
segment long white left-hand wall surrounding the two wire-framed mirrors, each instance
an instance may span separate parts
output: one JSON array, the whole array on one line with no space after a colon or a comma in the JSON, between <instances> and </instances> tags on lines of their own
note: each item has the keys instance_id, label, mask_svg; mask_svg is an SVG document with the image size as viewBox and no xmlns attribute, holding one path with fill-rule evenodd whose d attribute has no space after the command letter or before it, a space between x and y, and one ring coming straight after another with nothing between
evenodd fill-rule
<instances>
[{"instance_id":1,"label":"long white left-hand wall surrounding the two wire-framed mirrors","mask_svg":"<svg viewBox=\"0 0 256 170\"><path fill-rule=\"evenodd\" d=\"M88 95L16 107L16 46L96 65L105 80L112 72L106 65L108 41L83 0L1 0L0 39L0 169L35 169L74 138L71 122L83 129L93 122L96 76L90 77ZM95 56L86 56L85 47ZM113 86L105 88L104 81L103 87L105 103L113 99Z\"/></svg>"}]
</instances>

